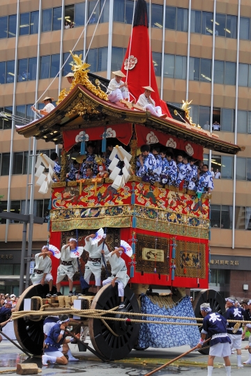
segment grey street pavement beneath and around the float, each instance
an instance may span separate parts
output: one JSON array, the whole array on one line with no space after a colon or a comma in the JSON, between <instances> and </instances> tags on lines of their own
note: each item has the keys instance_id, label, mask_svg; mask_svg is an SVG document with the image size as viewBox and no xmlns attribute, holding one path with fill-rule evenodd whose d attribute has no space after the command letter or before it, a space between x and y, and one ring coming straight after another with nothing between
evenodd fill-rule
<instances>
[{"instance_id":1,"label":"grey street pavement beneath and around the float","mask_svg":"<svg viewBox=\"0 0 251 376\"><path fill-rule=\"evenodd\" d=\"M87 340L89 342L89 340ZM248 359L248 351L244 349L247 342L243 343L242 361ZM61 376L63 374L73 374L80 376L86 373L86 376L144 376L151 370L160 367L167 361L176 358L190 349L189 346L173 347L172 349L153 349L149 348L144 351L132 350L126 359L121 361L111 361L102 363L88 350L79 352L77 345L70 344L71 351L79 361L69 362L67 366L50 365L42 366L40 357L28 358L15 345L3 340L0 343L0 371L15 370L17 363L37 363L42 369L42 375L45 376ZM176 361L174 365L164 368L156 375L192 375L206 376L207 356L192 352L184 358ZM244 368L237 368L236 354L231 355L231 375L234 376L250 376L251 365ZM215 358L214 375L226 375L223 359Z\"/></svg>"}]
</instances>

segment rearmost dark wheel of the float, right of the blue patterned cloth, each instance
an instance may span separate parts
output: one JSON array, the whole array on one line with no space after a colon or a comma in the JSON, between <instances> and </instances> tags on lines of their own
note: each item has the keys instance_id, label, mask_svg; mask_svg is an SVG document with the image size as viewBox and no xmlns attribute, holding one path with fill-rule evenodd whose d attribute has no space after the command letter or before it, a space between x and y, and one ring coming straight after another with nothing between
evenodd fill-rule
<instances>
[{"instance_id":1,"label":"rearmost dark wheel of the float, right of the blue patterned cloth","mask_svg":"<svg viewBox=\"0 0 251 376\"><path fill-rule=\"evenodd\" d=\"M222 296L213 289L202 289L199 294L196 296L195 301L192 303L192 308L195 312L195 317L202 317L200 313L200 306L202 303L210 303L213 312L218 312L220 315L225 313L225 301ZM201 324L201 321L198 321ZM199 331L202 327L199 326ZM206 339L208 336L206 336ZM201 347L199 352L204 355L209 354L209 348L203 349L203 347L210 346L210 341Z\"/></svg>"}]
</instances>

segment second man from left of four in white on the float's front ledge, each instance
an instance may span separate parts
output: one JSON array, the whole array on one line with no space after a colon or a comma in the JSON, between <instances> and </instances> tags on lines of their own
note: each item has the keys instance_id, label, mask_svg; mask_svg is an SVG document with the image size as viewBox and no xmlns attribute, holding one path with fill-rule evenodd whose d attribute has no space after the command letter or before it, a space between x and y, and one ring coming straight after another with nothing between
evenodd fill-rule
<instances>
[{"instance_id":1,"label":"second man from left of four in white on the float's front ledge","mask_svg":"<svg viewBox=\"0 0 251 376\"><path fill-rule=\"evenodd\" d=\"M77 265L77 258L70 256L70 251L75 250L77 248L77 240L74 238L70 238L69 243L64 245L61 248L61 264L57 269L57 276L56 276L56 294L54 296L61 295L60 287L61 281L65 276L68 276L69 280L69 294L68 296L73 296L73 276L78 270Z\"/></svg>"}]
</instances>

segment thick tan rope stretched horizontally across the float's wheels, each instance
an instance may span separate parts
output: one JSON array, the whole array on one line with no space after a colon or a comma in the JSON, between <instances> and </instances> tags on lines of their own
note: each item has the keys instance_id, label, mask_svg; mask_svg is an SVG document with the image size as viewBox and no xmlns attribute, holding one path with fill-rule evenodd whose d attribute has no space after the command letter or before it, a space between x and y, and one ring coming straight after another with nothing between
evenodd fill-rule
<instances>
[{"instance_id":1,"label":"thick tan rope stretched horizontally across the float's wheels","mask_svg":"<svg viewBox=\"0 0 251 376\"><path fill-rule=\"evenodd\" d=\"M42 306L41 308L45 308L47 306L46 304ZM77 310L75 308L70 308L68 310L53 310L53 311L37 311L37 310L26 310L26 311L17 311L12 313L12 319L20 319L24 316L37 316L41 315L43 316L48 316L49 314L58 316L58 315L76 315L79 317L86 317L86 318L91 318L91 319L107 319L107 320L114 320L114 321L125 321L125 319L119 319L116 317L103 317L105 314L114 314L118 315L118 311L116 310L118 307L112 308L112 310L96 310L96 309L90 309L90 310ZM141 316L141 317L156 317L156 318L162 318L162 319L183 319L183 320L198 320L202 321L203 318L201 317L182 317L182 316L169 316L169 315L152 315L150 313L132 313L132 312L126 312L126 313L121 313L126 316ZM149 320L135 320L131 319L131 322L142 322L142 323L153 323L153 324L172 324L172 325L198 325L197 323L192 324L189 322L157 322L157 321L149 321ZM241 324L251 324L251 321L244 321L244 320L227 320L228 322L238 322Z\"/></svg>"}]
</instances>

